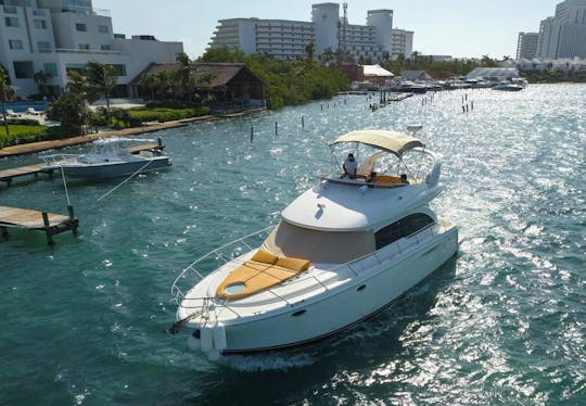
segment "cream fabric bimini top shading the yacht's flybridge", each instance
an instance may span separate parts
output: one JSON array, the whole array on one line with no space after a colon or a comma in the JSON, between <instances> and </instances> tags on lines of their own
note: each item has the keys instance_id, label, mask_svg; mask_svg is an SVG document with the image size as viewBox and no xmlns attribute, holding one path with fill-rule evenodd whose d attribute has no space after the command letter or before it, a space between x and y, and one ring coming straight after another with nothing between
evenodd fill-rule
<instances>
[{"instance_id":1,"label":"cream fabric bimini top shading the yacht's flybridge","mask_svg":"<svg viewBox=\"0 0 586 406\"><path fill-rule=\"evenodd\" d=\"M360 142L373 148L388 151L400 157L403 153L416 147L425 147L421 140L402 132L384 129L362 129L337 137L330 147L342 142Z\"/></svg>"}]
</instances>

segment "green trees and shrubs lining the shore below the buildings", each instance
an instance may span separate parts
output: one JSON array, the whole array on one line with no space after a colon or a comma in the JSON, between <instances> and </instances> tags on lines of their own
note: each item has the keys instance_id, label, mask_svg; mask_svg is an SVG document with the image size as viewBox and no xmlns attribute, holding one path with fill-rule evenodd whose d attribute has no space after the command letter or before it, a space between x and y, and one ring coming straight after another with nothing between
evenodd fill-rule
<instances>
[{"instance_id":1,"label":"green trees and shrubs lining the shore below the buildings","mask_svg":"<svg viewBox=\"0 0 586 406\"><path fill-rule=\"evenodd\" d=\"M314 100L327 100L351 89L351 79L335 66L335 54L320 55L314 59L314 49L309 45L304 58L284 61L264 54L245 55L242 51L228 48L211 49L195 62L202 63L242 63L245 64L265 84L266 109L278 110L285 105L305 104ZM507 61L505 56L502 61ZM431 56L413 52L411 58L399 55L396 60L385 59L379 64L387 71L425 71L432 77L463 76L475 67L499 66L497 60L487 55L482 60L433 61ZM360 61L370 64L371 61ZM89 61L84 69L69 72L71 81L67 91L54 100L46 112L50 120L58 125L44 126L42 120L10 118L3 114L0 127L0 150L23 143L63 140L95 132L97 128L123 130L126 128L146 128L145 123L170 123L196 117L214 117L211 105L216 100L200 94L198 84L192 80L192 61L187 54L177 55L177 71L165 78L145 78L141 83L142 93L150 98L145 106L120 109L110 105L117 85L116 73L112 66ZM2 71L2 69L0 69ZM2 75L4 74L4 75ZM586 73L521 71L521 75L531 84L585 83ZM163 80L164 79L164 80ZM0 73L0 98L4 103L15 99L15 89L7 83L7 75ZM39 87L39 90L40 87ZM146 99L145 98L145 99ZM104 106L93 110L89 105L105 99ZM5 110L5 109L3 109ZM138 131L140 132L140 130ZM107 132L104 132L107 134ZM1 156L1 155L0 155Z\"/></svg>"}]
</instances>

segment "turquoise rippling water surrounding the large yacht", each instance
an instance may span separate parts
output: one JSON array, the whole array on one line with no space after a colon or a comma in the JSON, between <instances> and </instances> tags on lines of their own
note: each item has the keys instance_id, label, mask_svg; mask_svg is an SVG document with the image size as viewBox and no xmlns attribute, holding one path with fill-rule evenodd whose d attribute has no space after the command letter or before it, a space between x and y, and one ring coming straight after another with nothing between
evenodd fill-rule
<instances>
[{"instance_id":1,"label":"turquoise rippling water surrounding the large yacht","mask_svg":"<svg viewBox=\"0 0 586 406\"><path fill-rule=\"evenodd\" d=\"M416 96L375 113L371 102L161 131L174 166L100 202L119 180L69 182L77 238L0 242L0 404L586 403L586 86ZM275 224L329 169L329 141L412 123L444 157L434 208L460 228L453 261L311 346L211 363L186 333L163 333L178 272ZM0 205L66 213L59 177L1 185Z\"/></svg>"}]
</instances>

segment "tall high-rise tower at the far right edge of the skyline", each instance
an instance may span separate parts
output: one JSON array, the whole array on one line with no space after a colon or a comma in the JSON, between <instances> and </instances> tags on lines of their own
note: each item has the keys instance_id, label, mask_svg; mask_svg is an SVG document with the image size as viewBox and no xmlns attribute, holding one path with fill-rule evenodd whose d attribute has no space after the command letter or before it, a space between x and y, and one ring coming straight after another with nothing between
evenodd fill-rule
<instances>
[{"instance_id":1,"label":"tall high-rise tower at the far right edge of the skyline","mask_svg":"<svg viewBox=\"0 0 586 406\"><path fill-rule=\"evenodd\" d=\"M564 0L542 21L537 58L586 58L586 0Z\"/></svg>"}]
</instances>

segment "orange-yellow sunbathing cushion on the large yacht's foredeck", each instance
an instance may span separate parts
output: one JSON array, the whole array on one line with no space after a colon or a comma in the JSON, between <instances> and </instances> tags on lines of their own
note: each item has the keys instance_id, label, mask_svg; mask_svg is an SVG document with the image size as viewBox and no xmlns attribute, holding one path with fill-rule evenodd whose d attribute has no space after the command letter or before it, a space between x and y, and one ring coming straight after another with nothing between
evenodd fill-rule
<instances>
[{"instance_id":1,"label":"orange-yellow sunbathing cushion on the large yacht's foredeck","mask_svg":"<svg viewBox=\"0 0 586 406\"><path fill-rule=\"evenodd\" d=\"M283 257L278 258L277 262L281 262L282 265L246 261L228 274L216 289L216 296L228 301L244 299L282 283L309 268L307 259ZM232 293L226 291L234 286L239 286L241 289Z\"/></svg>"}]
</instances>

